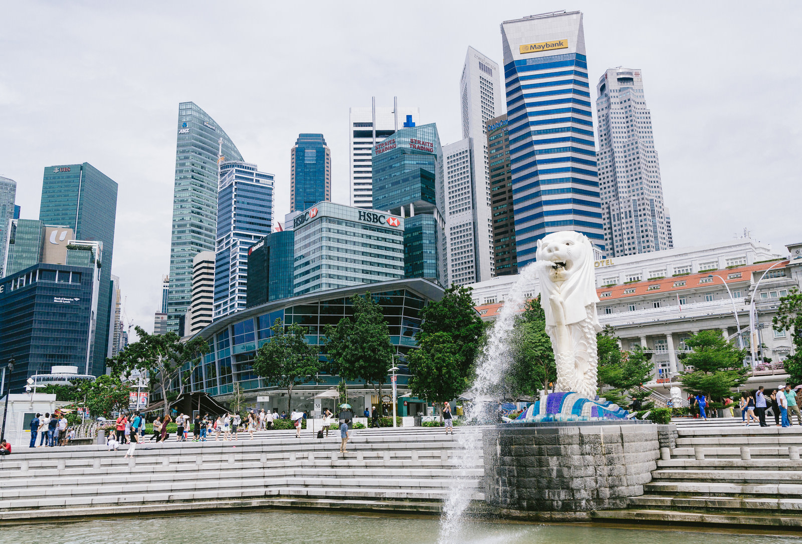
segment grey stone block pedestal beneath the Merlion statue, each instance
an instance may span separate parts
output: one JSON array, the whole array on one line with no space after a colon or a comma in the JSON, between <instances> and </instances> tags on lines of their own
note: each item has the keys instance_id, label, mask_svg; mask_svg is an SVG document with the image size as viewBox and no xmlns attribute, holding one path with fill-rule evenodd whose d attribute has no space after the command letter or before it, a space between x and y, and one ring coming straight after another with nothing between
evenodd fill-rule
<instances>
[{"instance_id":1,"label":"grey stone block pedestal beneath the Merlion statue","mask_svg":"<svg viewBox=\"0 0 802 544\"><path fill-rule=\"evenodd\" d=\"M485 500L509 517L578 520L626 508L660 456L650 421L508 423L482 438Z\"/></svg>"}]
</instances>

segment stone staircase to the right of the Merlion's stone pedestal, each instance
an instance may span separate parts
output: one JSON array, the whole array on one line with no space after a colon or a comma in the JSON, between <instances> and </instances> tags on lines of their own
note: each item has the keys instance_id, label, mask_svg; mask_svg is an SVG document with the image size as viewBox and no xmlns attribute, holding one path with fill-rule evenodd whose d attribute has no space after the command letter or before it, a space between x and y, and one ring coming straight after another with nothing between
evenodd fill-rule
<instances>
[{"instance_id":1,"label":"stone staircase to the right of the Merlion's stone pedestal","mask_svg":"<svg viewBox=\"0 0 802 544\"><path fill-rule=\"evenodd\" d=\"M679 424L676 447L669 455L664 450L644 494L630 498L626 510L593 518L802 527L802 427L715 421Z\"/></svg>"}]
</instances>

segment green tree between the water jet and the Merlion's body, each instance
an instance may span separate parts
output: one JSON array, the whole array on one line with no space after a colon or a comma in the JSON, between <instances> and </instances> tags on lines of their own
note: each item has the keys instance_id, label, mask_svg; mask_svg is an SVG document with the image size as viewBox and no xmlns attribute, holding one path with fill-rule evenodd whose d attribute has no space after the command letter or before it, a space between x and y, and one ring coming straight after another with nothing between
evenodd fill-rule
<instances>
[{"instance_id":1,"label":"green tree between the water jet and the Merlion's body","mask_svg":"<svg viewBox=\"0 0 802 544\"><path fill-rule=\"evenodd\" d=\"M540 297L529 300L512 333L512 365L507 383L513 395L536 396L557 380L554 351L545 331L545 312Z\"/></svg>"}]
</instances>

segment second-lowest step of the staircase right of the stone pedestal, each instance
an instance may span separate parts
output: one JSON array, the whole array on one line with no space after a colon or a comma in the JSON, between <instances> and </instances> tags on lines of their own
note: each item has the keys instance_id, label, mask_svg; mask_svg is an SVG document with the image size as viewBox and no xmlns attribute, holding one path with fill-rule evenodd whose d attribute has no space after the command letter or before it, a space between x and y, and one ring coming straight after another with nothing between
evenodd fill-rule
<instances>
[{"instance_id":1,"label":"second-lowest step of the staircase right of the stone pedestal","mask_svg":"<svg viewBox=\"0 0 802 544\"><path fill-rule=\"evenodd\" d=\"M709 495L672 497L641 495L630 498L636 509L666 508L669 510L779 510L784 514L802 513L802 497L715 497Z\"/></svg>"}]
</instances>

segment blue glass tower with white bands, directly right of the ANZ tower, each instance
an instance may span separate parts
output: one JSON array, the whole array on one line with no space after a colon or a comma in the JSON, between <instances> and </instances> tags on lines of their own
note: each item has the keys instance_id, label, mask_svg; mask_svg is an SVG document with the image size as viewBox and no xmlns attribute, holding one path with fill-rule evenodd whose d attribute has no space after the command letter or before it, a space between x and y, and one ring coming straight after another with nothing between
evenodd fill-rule
<instances>
[{"instance_id":1,"label":"blue glass tower with white bands, directly right of the ANZ tower","mask_svg":"<svg viewBox=\"0 0 802 544\"><path fill-rule=\"evenodd\" d=\"M256 164L241 161L221 163L220 191L217 192L214 319L245 308L248 248L268 235L272 225L273 174L257 171Z\"/></svg>"}]
</instances>

